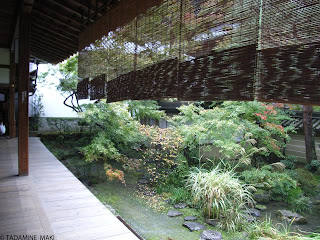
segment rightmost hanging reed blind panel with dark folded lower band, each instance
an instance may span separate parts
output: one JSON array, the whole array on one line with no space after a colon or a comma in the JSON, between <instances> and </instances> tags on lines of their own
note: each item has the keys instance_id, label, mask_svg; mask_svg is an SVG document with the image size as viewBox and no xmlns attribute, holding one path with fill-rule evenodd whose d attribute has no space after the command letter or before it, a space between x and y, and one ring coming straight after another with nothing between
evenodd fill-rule
<instances>
[{"instance_id":1,"label":"rightmost hanging reed blind panel with dark folded lower band","mask_svg":"<svg viewBox=\"0 0 320 240\"><path fill-rule=\"evenodd\" d=\"M320 104L320 2L264 0L258 100Z\"/></svg>"}]
</instances>

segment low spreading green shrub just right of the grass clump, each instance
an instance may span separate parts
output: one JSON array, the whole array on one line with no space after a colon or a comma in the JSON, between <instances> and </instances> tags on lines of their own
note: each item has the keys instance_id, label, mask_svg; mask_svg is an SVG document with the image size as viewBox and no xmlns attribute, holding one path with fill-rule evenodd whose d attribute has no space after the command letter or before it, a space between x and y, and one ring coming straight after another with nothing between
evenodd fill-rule
<instances>
[{"instance_id":1,"label":"low spreading green shrub just right of the grass clump","mask_svg":"<svg viewBox=\"0 0 320 240\"><path fill-rule=\"evenodd\" d=\"M241 178L248 184L257 186L263 184L270 189L271 199L274 201L288 202L290 191L297 188L297 182L286 172L272 171L270 165L261 169L246 170L241 173Z\"/></svg>"}]
</instances>

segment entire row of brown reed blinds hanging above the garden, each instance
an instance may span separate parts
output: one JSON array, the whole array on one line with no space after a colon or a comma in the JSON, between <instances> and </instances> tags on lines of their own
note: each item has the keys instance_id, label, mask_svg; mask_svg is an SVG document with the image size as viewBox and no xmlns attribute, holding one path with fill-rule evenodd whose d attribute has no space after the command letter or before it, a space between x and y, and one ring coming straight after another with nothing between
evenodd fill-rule
<instances>
[{"instance_id":1,"label":"entire row of brown reed blinds hanging above the garden","mask_svg":"<svg viewBox=\"0 0 320 240\"><path fill-rule=\"evenodd\" d=\"M100 26L105 36L80 51L80 77L103 89L94 79L105 74L109 102L256 97L320 104L319 1L144 2L123 1ZM90 98L102 97L91 90Z\"/></svg>"}]
</instances>

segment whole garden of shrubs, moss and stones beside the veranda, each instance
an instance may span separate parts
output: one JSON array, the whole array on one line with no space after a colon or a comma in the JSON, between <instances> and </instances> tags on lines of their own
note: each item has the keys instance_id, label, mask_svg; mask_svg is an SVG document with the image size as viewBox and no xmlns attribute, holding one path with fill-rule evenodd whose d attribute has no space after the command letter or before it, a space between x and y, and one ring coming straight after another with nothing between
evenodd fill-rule
<instances>
[{"instance_id":1,"label":"whole garden of shrubs, moss and stones beside the veranda","mask_svg":"<svg viewBox=\"0 0 320 240\"><path fill-rule=\"evenodd\" d=\"M320 162L285 154L295 131L281 124L293 114L287 105L159 109L99 100L81 105L77 131L61 122L40 137L143 239L320 239Z\"/></svg>"}]
</instances>

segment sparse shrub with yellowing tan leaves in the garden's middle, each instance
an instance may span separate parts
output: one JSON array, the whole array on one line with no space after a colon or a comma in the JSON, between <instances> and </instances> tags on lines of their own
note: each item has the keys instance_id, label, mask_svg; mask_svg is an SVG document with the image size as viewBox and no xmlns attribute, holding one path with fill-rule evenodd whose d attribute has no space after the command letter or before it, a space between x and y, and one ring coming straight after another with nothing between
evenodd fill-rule
<instances>
[{"instance_id":1,"label":"sparse shrub with yellowing tan leaves in the garden's middle","mask_svg":"<svg viewBox=\"0 0 320 240\"><path fill-rule=\"evenodd\" d=\"M151 183L164 181L168 173L182 164L178 154L182 138L174 129L161 129L157 126L141 126L140 132L145 136L143 161Z\"/></svg>"}]
</instances>

